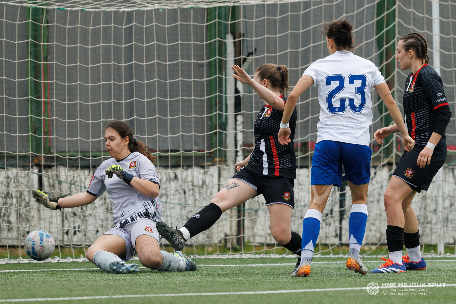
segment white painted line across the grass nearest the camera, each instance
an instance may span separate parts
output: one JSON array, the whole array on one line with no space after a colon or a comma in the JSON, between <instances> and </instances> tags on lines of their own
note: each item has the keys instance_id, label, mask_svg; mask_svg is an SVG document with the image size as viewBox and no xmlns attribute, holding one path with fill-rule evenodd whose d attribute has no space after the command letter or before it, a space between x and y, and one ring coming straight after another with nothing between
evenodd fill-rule
<instances>
[{"instance_id":1,"label":"white painted line across the grass nearest the camera","mask_svg":"<svg viewBox=\"0 0 456 304\"><path fill-rule=\"evenodd\" d=\"M445 287L456 286L448 284ZM341 290L363 290L366 287L347 288L320 288L320 289L295 289L295 290L269 290L269 291L244 291L234 293L188 293L188 294L122 294L114 296L93 296L93 297L71 297L71 298L30 298L30 299L0 299L1 302L28 302L28 301L65 301L65 300L92 300L92 299L119 299L119 298L150 298L150 297L180 297L180 296L216 296L216 295L243 295L243 294L288 294L305 293L311 291L341 291ZM383 288L384 289L384 288Z\"/></svg>"}]
</instances>

